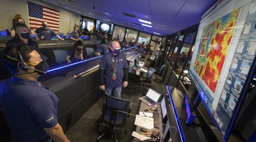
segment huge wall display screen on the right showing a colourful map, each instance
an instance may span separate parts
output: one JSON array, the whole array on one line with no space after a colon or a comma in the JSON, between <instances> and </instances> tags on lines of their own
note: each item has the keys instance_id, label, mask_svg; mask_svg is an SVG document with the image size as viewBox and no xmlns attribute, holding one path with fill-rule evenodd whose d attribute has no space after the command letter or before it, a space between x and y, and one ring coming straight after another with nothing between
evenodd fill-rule
<instances>
[{"instance_id":1,"label":"huge wall display screen on the right showing a colourful map","mask_svg":"<svg viewBox=\"0 0 256 142\"><path fill-rule=\"evenodd\" d=\"M202 16L189 74L225 140L255 59L256 0L213 7Z\"/></svg>"}]
</instances>

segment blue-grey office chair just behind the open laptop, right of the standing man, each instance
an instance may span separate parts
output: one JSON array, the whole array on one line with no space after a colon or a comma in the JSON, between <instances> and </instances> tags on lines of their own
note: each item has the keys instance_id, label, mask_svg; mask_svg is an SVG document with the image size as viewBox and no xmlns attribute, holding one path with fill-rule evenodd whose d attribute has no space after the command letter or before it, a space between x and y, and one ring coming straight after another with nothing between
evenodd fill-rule
<instances>
[{"instance_id":1,"label":"blue-grey office chair just behind the open laptop, right of the standing man","mask_svg":"<svg viewBox=\"0 0 256 142\"><path fill-rule=\"evenodd\" d=\"M146 76L139 76L139 81L142 82L142 85L138 85L135 88L142 88L142 95L144 94L144 90L149 90L146 88L145 83L151 83L153 81L152 76L154 75L155 71L156 69L150 67L146 72Z\"/></svg>"}]
</instances>

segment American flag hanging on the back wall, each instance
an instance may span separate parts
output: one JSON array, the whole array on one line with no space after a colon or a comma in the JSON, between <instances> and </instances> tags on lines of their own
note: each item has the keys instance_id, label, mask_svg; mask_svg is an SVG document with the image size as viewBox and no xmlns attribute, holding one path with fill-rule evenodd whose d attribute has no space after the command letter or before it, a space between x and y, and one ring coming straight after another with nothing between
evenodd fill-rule
<instances>
[{"instance_id":1,"label":"American flag hanging on the back wall","mask_svg":"<svg viewBox=\"0 0 256 142\"><path fill-rule=\"evenodd\" d=\"M42 27L42 21L48 23L49 28L59 31L60 11L41 6L28 1L28 23L31 29Z\"/></svg>"}]
</instances>

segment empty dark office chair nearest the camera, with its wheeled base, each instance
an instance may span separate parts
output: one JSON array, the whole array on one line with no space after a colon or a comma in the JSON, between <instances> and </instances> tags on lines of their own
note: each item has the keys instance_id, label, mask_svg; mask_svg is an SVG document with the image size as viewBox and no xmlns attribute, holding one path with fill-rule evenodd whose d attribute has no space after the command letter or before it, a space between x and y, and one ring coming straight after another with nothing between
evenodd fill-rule
<instances>
[{"instance_id":1,"label":"empty dark office chair nearest the camera, with its wheeled base","mask_svg":"<svg viewBox=\"0 0 256 142\"><path fill-rule=\"evenodd\" d=\"M100 141L100 139L104 138L105 136L109 136L112 134L114 141L117 142L117 137L114 134L114 130L118 129L119 131L124 131L127 134L125 129L119 129L116 126L124 125L127 122L127 117L132 110L132 100L124 100L117 97L112 97L110 95L105 95L106 97L106 105L102 116L100 117L101 122L107 123L105 124L98 124L97 129L99 126L103 126L107 128L101 136L97 138L96 141Z\"/></svg>"}]
</instances>

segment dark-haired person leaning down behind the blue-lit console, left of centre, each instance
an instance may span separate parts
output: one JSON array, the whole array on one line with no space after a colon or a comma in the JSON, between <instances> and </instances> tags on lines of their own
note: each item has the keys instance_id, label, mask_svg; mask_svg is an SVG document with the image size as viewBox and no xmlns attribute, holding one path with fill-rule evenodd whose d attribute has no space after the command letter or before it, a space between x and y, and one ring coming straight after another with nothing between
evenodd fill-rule
<instances>
[{"instance_id":1,"label":"dark-haired person leaning down behind the blue-lit console, left of centre","mask_svg":"<svg viewBox=\"0 0 256 142\"><path fill-rule=\"evenodd\" d=\"M83 47L82 40L78 40L77 42L75 42L74 46L68 50L68 55L66 57L66 60L68 61L68 63L73 63L73 62L80 61L83 59L82 47Z\"/></svg>"}]
</instances>

